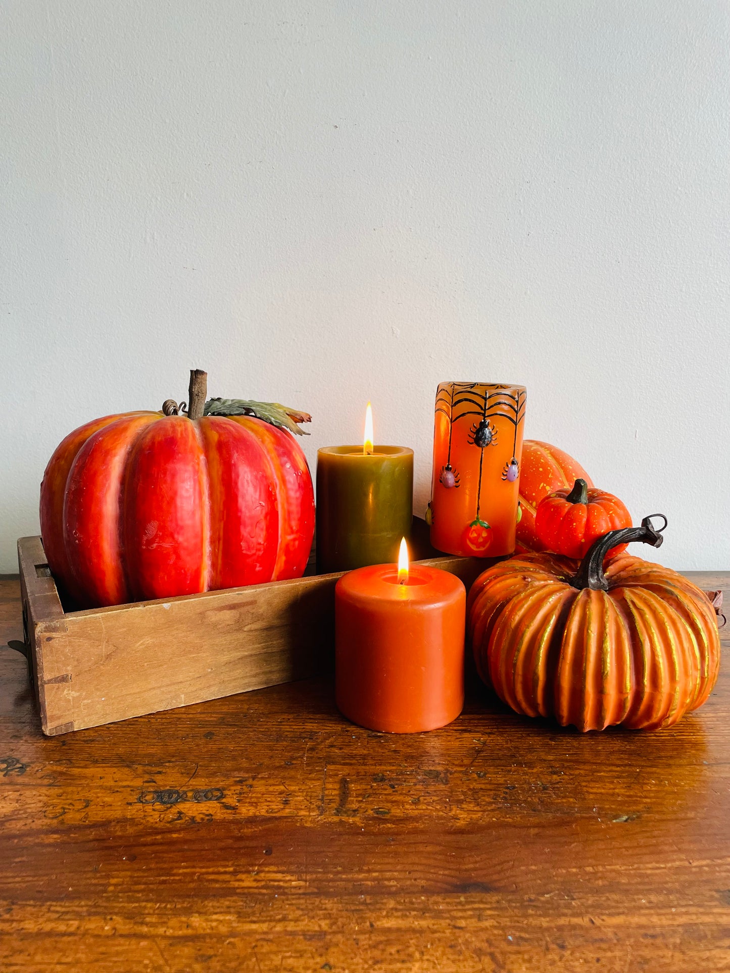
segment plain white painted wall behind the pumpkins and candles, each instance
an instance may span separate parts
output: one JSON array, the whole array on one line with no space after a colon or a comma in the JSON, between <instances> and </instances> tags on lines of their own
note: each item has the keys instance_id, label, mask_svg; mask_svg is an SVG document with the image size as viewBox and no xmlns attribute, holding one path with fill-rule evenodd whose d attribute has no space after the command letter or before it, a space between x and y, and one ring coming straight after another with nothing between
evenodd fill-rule
<instances>
[{"instance_id":1,"label":"plain white painted wall behind the pumpkins and candles","mask_svg":"<svg viewBox=\"0 0 730 973\"><path fill-rule=\"evenodd\" d=\"M412 446L529 389L657 558L730 568L726 0L5 0L0 571L57 442L211 394Z\"/></svg>"}]
</instances>

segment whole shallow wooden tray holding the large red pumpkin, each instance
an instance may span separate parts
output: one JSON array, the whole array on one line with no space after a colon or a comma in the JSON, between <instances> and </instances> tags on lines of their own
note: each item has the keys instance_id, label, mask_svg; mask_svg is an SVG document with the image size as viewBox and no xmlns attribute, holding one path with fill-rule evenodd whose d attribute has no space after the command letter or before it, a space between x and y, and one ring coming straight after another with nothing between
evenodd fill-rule
<instances>
[{"instance_id":1,"label":"whole shallow wooden tray holding the large red pumpkin","mask_svg":"<svg viewBox=\"0 0 730 973\"><path fill-rule=\"evenodd\" d=\"M332 667L340 574L64 611L40 537L20 538L18 563L28 668L48 736ZM458 575L468 588L491 561L419 563Z\"/></svg>"}]
</instances>

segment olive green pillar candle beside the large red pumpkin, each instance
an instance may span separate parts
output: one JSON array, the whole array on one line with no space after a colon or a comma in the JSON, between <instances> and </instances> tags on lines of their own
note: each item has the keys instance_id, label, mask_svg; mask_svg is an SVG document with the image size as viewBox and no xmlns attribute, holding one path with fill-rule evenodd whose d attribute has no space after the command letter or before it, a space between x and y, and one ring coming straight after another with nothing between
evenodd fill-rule
<instances>
[{"instance_id":1,"label":"olive green pillar candle beside the large red pumpkin","mask_svg":"<svg viewBox=\"0 0 730 973\"><path fill-rule=\"evenodd\" d=\"M395 563L413 520L413 450L317 451L317 571Z\"/></svg>"}]
</instances>

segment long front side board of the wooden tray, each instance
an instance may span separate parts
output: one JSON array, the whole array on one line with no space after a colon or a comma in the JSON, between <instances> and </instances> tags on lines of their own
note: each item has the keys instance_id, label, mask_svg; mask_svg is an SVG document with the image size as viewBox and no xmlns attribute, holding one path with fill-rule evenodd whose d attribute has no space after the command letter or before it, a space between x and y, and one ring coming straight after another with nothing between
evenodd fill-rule
<instances>
[{"instance_id":1,"label":"long front side board of the wooden tray","mask_svg":"<svg viewBox=\"0 0 730 973\"><path fill-rule=\"evenodd\" d=\"M67 616L53 667L74 729L215 700L327 667L334 580Z\"/></svg>"}]
</instances>

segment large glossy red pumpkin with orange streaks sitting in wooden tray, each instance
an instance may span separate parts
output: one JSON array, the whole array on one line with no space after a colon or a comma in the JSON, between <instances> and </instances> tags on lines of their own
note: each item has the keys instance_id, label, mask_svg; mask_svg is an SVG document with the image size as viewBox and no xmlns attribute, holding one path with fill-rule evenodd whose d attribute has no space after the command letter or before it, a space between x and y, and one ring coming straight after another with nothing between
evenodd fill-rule
<instances>
[{"instance_id":1,"label":"large glossy red pumpkin with orange streaks sitting in wooden tray","mask_svg":"<svg viewBox=\"0 0 730 973\"><path fill-rule=\"evenodd\" d=\"M269 422L127 413L66 436L40 515L55 578L92 607L300 577L314 497L303 451Z\"/></svg>"}]
</instances>

